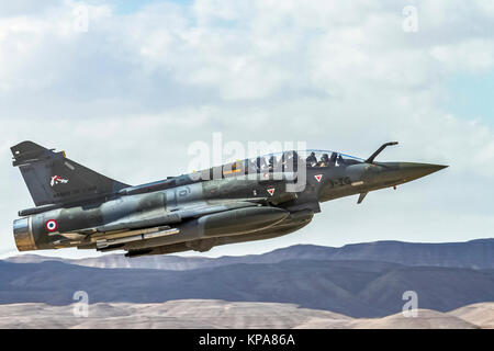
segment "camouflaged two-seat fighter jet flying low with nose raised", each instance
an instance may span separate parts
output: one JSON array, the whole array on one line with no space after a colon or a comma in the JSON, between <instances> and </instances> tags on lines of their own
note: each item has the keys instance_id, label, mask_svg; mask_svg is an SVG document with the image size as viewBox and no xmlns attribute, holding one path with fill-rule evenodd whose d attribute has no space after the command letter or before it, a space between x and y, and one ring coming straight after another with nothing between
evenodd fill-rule
<instances>
[{"instance_id":1,"label":"camouflaged two-seat fighter jet flying low with nose raised","mask_svg":"<svg viewBox=\"0 0 494 351\"><path fill-rule=\"evenodd\" d=\"M19 251L125 250L126 257L207 251L306 226L319 203L395 188L447 166L378 162L335 151L292 150L128 185L32 141L11 148L35 207L13 223Z\"/></svg>"}]
</instances>

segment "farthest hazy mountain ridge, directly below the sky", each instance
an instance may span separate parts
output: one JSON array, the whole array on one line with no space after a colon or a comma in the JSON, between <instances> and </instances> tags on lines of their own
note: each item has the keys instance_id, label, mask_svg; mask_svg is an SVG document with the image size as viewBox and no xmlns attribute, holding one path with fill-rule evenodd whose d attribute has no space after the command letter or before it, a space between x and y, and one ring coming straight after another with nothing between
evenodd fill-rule
<instances>
[{"instance_id":1,"label":"farthest hazy mountain ridge, directly below the sky","mask_svg":"<svg viewBox=\"0 0 494 351\"><path fill-rule=\"evenodd\" d=\"M382 240L349 244L340 248L294 245L260 254L222 256L218 258L157 256L128 259L122 254L105 254L98 258L61 259L37 254L15 256L8 262L63 261L70 264L100 268L189 270L202 267L220 267L232 263L274 263L287 259L321 260L370 260L405 265L456 267L494 269L494 238L474 239L463 242L405 242Z\"/></svg>"}]
</instances>

